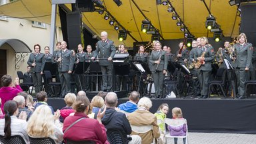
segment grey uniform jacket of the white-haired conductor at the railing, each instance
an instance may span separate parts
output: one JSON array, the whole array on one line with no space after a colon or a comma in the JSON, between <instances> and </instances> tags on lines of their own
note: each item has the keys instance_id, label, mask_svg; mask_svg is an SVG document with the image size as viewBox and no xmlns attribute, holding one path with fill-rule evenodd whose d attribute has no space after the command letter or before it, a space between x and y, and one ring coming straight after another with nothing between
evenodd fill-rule
<instances>
[{"instance_id":1,"label":"grey uniform jacket of the white-haired conductor at the railing","mask_svg":"<svg viewBox=\"0 0 256 144\"><path fill-rule=\"evenodd\" d=\"M115 45L113 41L110 41L107 39L106 41L98 41L96 44L96 50L93 53L93 57L97 57L99 59L103 58L102 60L99 60L99 65L107 66L107 65L113 65L113 61L108 61L107 59L109 57L114 57L115 55Z\"/></svg>"}]
</instances>

